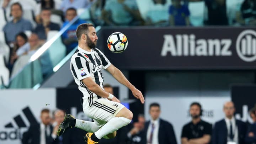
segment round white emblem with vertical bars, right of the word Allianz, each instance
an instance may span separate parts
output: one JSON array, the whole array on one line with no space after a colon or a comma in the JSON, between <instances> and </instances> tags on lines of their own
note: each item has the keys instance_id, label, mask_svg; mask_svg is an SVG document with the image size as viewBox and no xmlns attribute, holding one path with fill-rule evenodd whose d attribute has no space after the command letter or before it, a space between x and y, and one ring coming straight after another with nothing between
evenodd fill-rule
<instances>
[{"instance_id":1,"label":"round white emblem with vertical bars, right of the word Allianz","mask_svg":"<svg viewBox=\"0 0 256 144\"><path fill-rule=\"evenodd\" d=\"M236 39L236 52L245 62L256 60L256 32L254 30L242 31Z\"/></svg>"}]
</instances>

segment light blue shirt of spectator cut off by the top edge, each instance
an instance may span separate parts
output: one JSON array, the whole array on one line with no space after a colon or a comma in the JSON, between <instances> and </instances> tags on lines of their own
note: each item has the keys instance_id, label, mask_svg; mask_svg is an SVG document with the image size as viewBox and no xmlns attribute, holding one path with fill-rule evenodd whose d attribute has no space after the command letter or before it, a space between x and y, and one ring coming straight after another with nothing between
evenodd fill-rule
<instances>
[{"instance_id":1,"label":"light blue shirt of spectator cut off by the top edge","mask_svg":"<svg viewBox=\"0 0 256 144\"><path fill-rule=\"evenodd\" d=\"M65 12L68 8L73 7L75 9L86 8L88 9L92 1L94 0L63 0L60 9Z\"/></svg>"}]
</instances>

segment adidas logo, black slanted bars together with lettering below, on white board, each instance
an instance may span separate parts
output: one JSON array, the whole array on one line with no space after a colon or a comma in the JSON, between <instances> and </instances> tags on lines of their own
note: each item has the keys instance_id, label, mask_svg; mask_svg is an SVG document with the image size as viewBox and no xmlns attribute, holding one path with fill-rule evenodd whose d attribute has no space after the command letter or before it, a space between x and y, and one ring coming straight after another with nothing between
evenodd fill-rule
<instances>
[{"instance_id":1,"label":"adidas logo, black slanted bars together with lettering below, on white board","mask_svg":"<svg viewBox=\"0 0 256 144\"><path fill-rule=\"evenodd\" d=\"M0 131L0 141L18 140L22 138L23 132L29 124L37 123L32 111L29 107L22 109L22 113L15 116L11 122L4 125L5 130Z\"/></svg>"}]
</instances>

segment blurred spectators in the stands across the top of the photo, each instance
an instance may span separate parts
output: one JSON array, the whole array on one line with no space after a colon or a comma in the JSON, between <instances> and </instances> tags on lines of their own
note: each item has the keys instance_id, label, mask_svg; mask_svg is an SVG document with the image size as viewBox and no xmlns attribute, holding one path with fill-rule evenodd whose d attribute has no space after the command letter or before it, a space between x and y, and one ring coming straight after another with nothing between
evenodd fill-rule
<instances>
[{"instance_id":1,"label":"blurred spectators in the stands across the top of the photo","mask_svg":"<svg viewBox=\"0 0 256 144\"><path fill-rule=\"evenodd\" d=\"M8 77L15 76L38 48L70 22L57 45L64 54L56 56L49 49L40 59L43 79L77 46L75 30L84 22L158 27L256 23L255 0L1 0L0 6L0 59L9 71ZM73 22L77 15L80 18ZM36 46L32 46L31 37L38 37ZM19 59L22 62L17 63Z\"/></svg>"}]
</instances>

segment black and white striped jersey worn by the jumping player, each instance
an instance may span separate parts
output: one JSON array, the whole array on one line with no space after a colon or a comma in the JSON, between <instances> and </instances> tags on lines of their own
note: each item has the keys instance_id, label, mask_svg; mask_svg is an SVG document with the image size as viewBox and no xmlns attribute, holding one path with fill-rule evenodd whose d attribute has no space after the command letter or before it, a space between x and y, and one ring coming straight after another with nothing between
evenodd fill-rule
<instances>
[{"instance_id":1,"label":"black and white striped jersey worn by the jumping player","mask_svg":"<svg viewBox=\"0 0 256 144\"><path fill-rule=\"evenodd\" d=\"M84 94L84 97L97 97L81 81L89 76L103 89L102 69L110 66L110 61L97 48L88 52L80 47L71 57L70 70L75 79L78 89Z\"/></svg>"}]
</instances>

